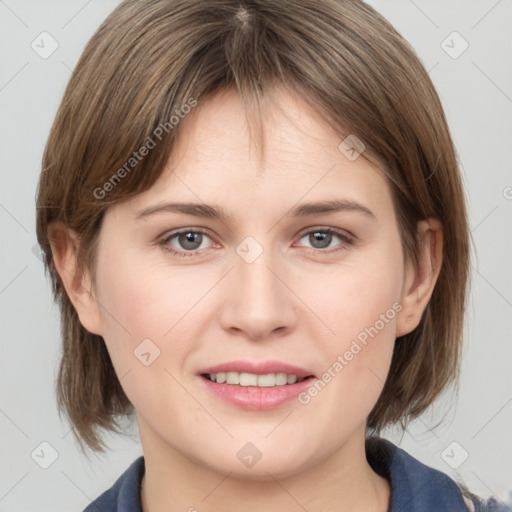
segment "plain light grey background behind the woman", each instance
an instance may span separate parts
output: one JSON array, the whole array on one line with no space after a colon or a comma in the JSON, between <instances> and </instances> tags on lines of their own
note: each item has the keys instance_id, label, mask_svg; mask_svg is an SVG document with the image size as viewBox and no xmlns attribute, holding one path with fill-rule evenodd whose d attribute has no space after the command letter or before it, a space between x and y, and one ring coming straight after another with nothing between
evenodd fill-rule
<instances>
[{"instance_id":1,"label":"plain light grey background behind the woman","mask_svg":"<svg viewBox=\"0 0 512 512\"><path fill-rule=\"evenodd\" d=\"M476 246L458 399L447 394L405 434L390 429L386 435L473 492L509 499L512 2L370 3L411 42L438 88L460 155ZM34 197L48 131L86 41L117 4L0 0L0 512L82 510L142 453L132 426L126 438L107 436L106 456L88 460L59 419L58 311L34 249ZM46 59L31 47L43 31L58 43ZM453 31L469 44L457 58L464 43ZM43 469L52 450L57 458Z\"/></svg>"}]
</instances>

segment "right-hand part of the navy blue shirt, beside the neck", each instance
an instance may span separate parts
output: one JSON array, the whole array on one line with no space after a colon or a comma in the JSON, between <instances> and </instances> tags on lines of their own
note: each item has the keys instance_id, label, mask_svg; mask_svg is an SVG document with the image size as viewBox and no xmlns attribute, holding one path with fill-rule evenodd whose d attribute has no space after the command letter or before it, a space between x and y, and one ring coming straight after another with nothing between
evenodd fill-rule
<instances>
[{"instance_id":1,"label":"right-hand part of the navy blue shirt, beside the neck","mask_svg":"<svg viewBox=\"0 0 512 512\"><path fill-rule=\"evenodd\" d=\"M510 508L492 508L495 500L483 502L465 493L447 474L423 464L386 439L368 438L366 456L374 471L390 482L389 512L512 512Z\"/></svg>"}]
</instances>

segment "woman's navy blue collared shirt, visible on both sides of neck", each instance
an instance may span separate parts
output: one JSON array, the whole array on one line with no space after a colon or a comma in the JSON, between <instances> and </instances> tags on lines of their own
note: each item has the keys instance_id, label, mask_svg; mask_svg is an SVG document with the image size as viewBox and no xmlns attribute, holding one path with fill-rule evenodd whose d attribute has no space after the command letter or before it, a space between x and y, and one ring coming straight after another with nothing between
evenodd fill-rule
<instances>
[{"instance_id":1,"label":"woman's navy blue collared shirt, visible on both sides of neck","mask_svg":"<svg viewBox=\"0 0 512 512\"><path fill-rule=\"evenodd\" d=\"M425 466L386 439L366 441L366 457L376 473L391 484L388 512L468 512L459 486L446 474ZM140 483L144 457L136 459L114 485L83 512L142 512ZM511 512L493 498L472 499L475 512Z\"/></svg>"}]
</instances>

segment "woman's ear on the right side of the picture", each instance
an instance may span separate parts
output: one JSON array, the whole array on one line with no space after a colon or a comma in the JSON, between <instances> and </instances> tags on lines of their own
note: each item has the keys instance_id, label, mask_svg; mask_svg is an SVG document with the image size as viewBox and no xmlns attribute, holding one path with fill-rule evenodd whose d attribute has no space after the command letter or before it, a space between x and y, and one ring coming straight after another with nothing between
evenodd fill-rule
<instances>
[{"instance_id":1,"label":"woman's ear on the right side of the picture","mask_svg":"<svg viewBox=\"0 0 512 512\"><path fill-rule=\"evenodd\" d=\"M418 223L418 243L418 268L414 268L412 262L406 265L400 301L402 310L396 325L397 337L410 333L419 325L434 291L443 260L443 229L437 219L427 219Z\"/></svg>"}]
</instances>

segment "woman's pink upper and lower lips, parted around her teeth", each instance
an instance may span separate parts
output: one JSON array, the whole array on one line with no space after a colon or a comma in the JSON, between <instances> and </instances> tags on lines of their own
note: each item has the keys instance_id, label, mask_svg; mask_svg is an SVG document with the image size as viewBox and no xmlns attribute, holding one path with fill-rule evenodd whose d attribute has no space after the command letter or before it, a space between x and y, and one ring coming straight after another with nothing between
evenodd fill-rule
<instances>
[{"instance_id":1,"label":"woman's pink upper and lower lips, parted around her teeth","mask_svg":"<svg viewBox=\"0 0 512 512\"><path fill-rule=\"evenodd\" d=\"M227 373L227 372L246 372L256 375L266 375L268 373L287 373L296 375L299 378L312 376L312 372L278 361L267 361L264 363L252 363L250 361L232 361L230 363L220 364L209 368L204 368L199 375L205 373ZM218 384L207 378L202 377L201 382L214 395L225 402L240 407L242 409L263 411L274 409L280 405L295 398L309 388L316 380L312 378L305 379L295 384L285 384L284 386L274 386L272 388L260 388L257 386L235 386L230 384Z\"/></svg>"}]
</instances>

